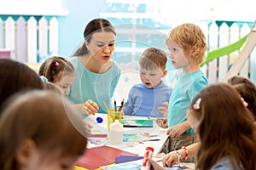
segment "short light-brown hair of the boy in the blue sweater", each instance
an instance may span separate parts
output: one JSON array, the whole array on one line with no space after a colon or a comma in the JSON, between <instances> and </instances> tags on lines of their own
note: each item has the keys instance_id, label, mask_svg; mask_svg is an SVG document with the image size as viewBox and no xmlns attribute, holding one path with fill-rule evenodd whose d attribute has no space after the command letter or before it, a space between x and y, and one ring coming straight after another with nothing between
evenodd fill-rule
<instances>
[{"instance_id":1,"label":"short light-brown hair of the boy in the blue sweater","mask_svg":"<svg viewBox=\"0 0 256 170\"><path fill-rule=\"evenodd\" d=\"M141 55L139 64L146 70L166 69L167 56L160 48L147 48Z\"/></svg>"}]
</instances>

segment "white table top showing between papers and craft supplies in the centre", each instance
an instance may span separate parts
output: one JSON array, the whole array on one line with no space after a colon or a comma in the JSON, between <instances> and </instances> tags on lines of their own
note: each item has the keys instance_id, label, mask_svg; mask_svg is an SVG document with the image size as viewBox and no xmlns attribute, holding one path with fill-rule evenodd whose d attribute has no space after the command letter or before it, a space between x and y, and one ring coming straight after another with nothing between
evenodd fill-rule
<instances>
[{"instance_id":1,"label":"white table top showing between papers and craft supplies in the centre","mask_svg":"<svg viewBox=\"0 0 256 170\"><path fill-rule=\"evenodd\" d=\"M102 117L103 122L97 123L96 117ZM148 117L142 117L142 116L124 116L125 119L148 119ZM107 122L108 122L108 116L107 114L96 114L96 116L87 116L84 121L90 122L92 124L92 133L94 131L101 131L102 133L108 134L107 129ZM162 147L163 144L165 144L167 135L166 135L166 129L158 127L155 120L153 119L153 127L124 127L124 133L125 134L137 134L138 139L123 142L123 144L109 144L108 139L106 140L106 143L103 145L108 145L110 147L118 148L120 150L129 151L131 153L138 154L139 156L143 156L146 148L148 146L151 146L154 148L154 155L157 155ZM158 138L159 140L154 141L146 141L145 139L148 138L148 136L154 136ZM93 147L93 144L89 144L89 147Z\"/></svg>"}]
</instances>

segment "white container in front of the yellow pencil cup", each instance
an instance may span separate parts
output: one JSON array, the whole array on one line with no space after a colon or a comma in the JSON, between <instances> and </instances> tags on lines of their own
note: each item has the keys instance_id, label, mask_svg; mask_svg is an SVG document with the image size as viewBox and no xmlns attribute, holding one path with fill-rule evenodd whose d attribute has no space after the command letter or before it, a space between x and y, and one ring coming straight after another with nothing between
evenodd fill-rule
<instances>
[{"instance_id":1,"label":"white container in front of the yellow pencil cup","mask_svg":"<svg viewBox=\"0 0 256 170\"><path fill-rule=\"evenodd\" d=\"M119 120L114 120L109 127L109 144L122 144L123 143L124 127Z\"/></svg>"}]
</instances>

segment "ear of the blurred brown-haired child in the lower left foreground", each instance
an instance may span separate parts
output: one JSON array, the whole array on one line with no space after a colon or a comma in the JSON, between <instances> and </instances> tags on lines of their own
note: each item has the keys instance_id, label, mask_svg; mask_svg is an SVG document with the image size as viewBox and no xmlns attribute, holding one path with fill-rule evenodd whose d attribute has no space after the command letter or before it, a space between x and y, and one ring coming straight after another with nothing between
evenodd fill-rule
<instances>
[{"instance_id":1,"label":"ear of the blurred brown-haired child in the lower left foreground","mask_svg":"<svg viewBox=\"0 0 256 170\"><path fill-rule=\"evenodd\" d=\"M25 139L16 150L15 156L20 165L26 166L33 156L36 144L32 139Z\"/></svg>"}]
</instances>

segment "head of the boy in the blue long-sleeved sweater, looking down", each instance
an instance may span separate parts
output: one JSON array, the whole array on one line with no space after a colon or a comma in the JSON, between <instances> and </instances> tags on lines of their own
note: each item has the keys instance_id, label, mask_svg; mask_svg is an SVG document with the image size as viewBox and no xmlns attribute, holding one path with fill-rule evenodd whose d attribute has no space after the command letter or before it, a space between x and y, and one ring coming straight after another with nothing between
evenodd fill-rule
<instances>
[{"instance_id":1,"label":"head of the boy in the blue long-sleeved sweater, looking down","mask_svg":"<svg viewBox=\"0 0 256 170\"><path fill-rule=\"evenodd\" d=\"M147 88L154 88L166 76L166 53L159 48L147 48L141 55L140 77Z\"/></svg>"}]
</instances>

